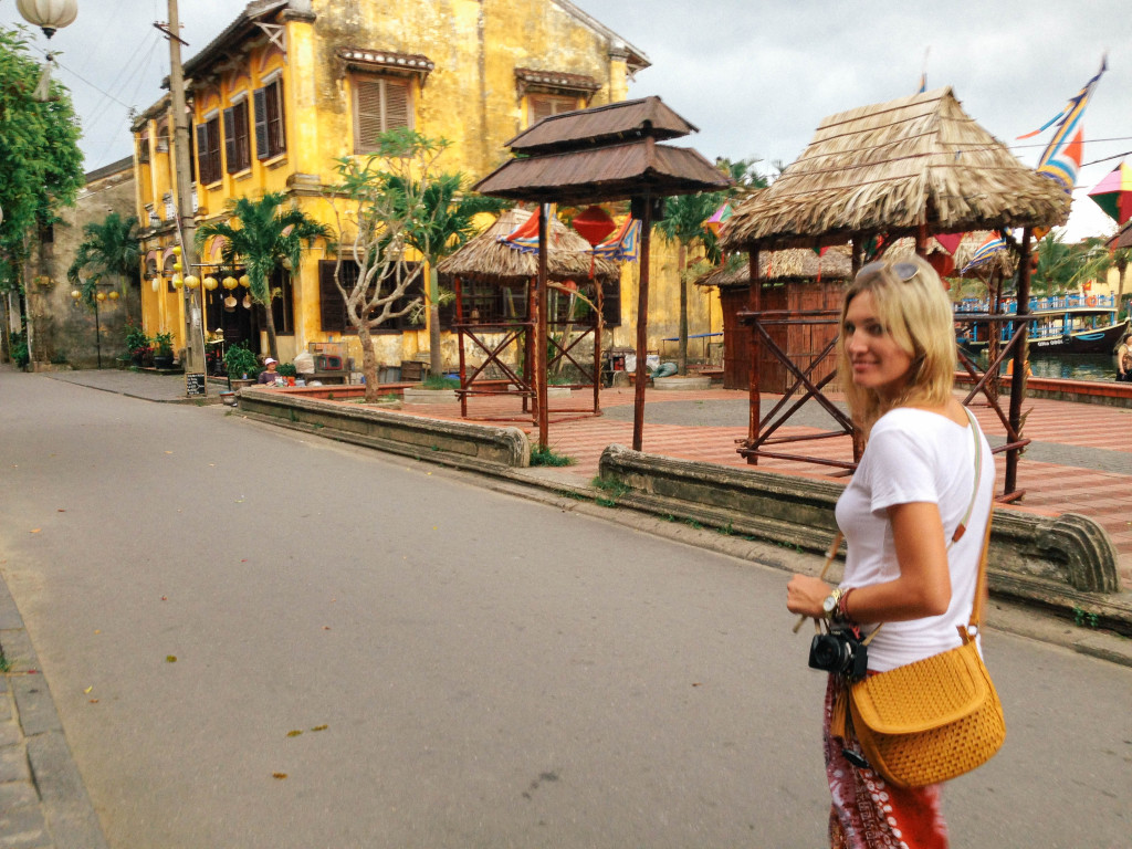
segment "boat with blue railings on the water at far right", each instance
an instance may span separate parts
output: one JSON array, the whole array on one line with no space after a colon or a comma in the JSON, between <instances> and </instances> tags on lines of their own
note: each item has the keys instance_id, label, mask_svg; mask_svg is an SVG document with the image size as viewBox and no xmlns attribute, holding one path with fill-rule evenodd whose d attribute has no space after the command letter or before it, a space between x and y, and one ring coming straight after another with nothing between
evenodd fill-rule
<instances>
[{"instance_id":1,"label":"boat with blue railings on the water at far right","mask_svg":"<svg viewBox=\"0 0 1132 849\"><path fill-rule=\"evenodd\" d=\"M1031 298L1028 332L1030 355L1045 354L1110 354L1129 332L1129 319L1117 320L1116 297L1108 294L1070 294ZM986 300L966 298L954 306L957 326L961 332L955 342L969 355L976 357L989 344L993 326L979 321L989 314ZM1018 301L1005 299L1000 315L1017 315ZM1009 340L1017 327L1014 321L996 323L1001 338Z\"/></svg>"}]
</instances>

